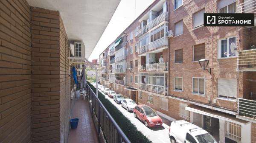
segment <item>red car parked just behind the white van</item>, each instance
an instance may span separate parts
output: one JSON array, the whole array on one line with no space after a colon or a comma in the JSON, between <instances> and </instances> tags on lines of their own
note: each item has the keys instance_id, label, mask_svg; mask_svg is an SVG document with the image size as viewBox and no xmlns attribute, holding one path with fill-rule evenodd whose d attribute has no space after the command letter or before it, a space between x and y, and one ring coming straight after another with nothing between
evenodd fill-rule
<instances>
[{"instance_id":1,"label":"red car parked just behind the white van","mask_svg":"<svg viewBox=\"0 0 256 143\"><path fill-rule=\"evenodd\" d=\"M163 124L157 113L147 105L137 105L134 108L134 117L143 121L147 127L157 127Z\"/></svg>"}]
</instances>

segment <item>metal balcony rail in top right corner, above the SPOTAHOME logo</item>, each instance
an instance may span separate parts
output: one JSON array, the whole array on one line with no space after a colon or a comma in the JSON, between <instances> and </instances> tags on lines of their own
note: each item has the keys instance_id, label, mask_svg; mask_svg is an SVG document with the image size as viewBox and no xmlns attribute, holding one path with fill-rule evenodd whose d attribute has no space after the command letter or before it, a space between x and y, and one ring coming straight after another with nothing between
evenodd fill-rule
<instances>
[{"instance_id":1,"label":"metal balcony rail in top right corner, above the SPOTAHOME logo","mask_svg":"<svg viewBox=\"0 0 256 143\"><path fill-rule=\"evenodd\" d=\"M237 5L237 13L256 13L256 0L247 0Z\"/></svg>"}]
</instances>

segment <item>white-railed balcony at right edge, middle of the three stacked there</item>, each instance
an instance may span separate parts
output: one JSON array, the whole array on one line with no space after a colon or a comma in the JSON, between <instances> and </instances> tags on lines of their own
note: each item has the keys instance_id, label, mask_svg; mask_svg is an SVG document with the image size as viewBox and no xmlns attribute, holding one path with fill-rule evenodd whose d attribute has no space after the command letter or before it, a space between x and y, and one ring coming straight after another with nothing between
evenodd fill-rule
<instances>
[{"instance_id":1,"label":"white-railed balcony at right edge, middle of the three stacked there","mask_svg":"<svg viewBox=\"0 0 256 143\"><path fill-rule=\"evenodd\" d=\"M237 64L239 71L256 71L256 49L239 51Z\"/></svg>"}]
</instances>

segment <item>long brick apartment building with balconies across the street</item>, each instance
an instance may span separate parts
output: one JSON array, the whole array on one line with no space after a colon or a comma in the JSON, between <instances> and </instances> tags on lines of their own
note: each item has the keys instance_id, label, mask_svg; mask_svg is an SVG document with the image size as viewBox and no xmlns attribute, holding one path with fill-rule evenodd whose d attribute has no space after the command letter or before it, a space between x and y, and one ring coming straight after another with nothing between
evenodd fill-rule
<instances>
[{"instance_id":1,"label":"long brick apartment building with balconies across the street","mask_svg":"<svg viewBox=\"0 0 256 143\"><path fill-rule=\"evenodd\" d=\"M126 84L113 90L202 126L220 143L256 143L256 28L204 27L204 13L255 14L256 1L154 1L122 34Z\"/></svg>"}]
</instances>

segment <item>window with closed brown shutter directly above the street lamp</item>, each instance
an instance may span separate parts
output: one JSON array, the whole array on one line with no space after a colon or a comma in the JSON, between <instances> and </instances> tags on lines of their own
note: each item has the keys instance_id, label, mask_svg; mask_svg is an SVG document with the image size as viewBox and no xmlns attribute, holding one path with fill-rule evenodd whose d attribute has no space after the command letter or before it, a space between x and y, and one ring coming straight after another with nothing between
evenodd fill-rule
<instances>
[{"instance_id":1,"label":"window with closed brown shutter directly above the street lamp","mask_svg":"<svg viewBox=\"0 0 256 143\"><path fill-rule=\"evenodd\" d=\"M205 59L205 43L193 46L193 61Z\"/></svg>"}]
</instances>

